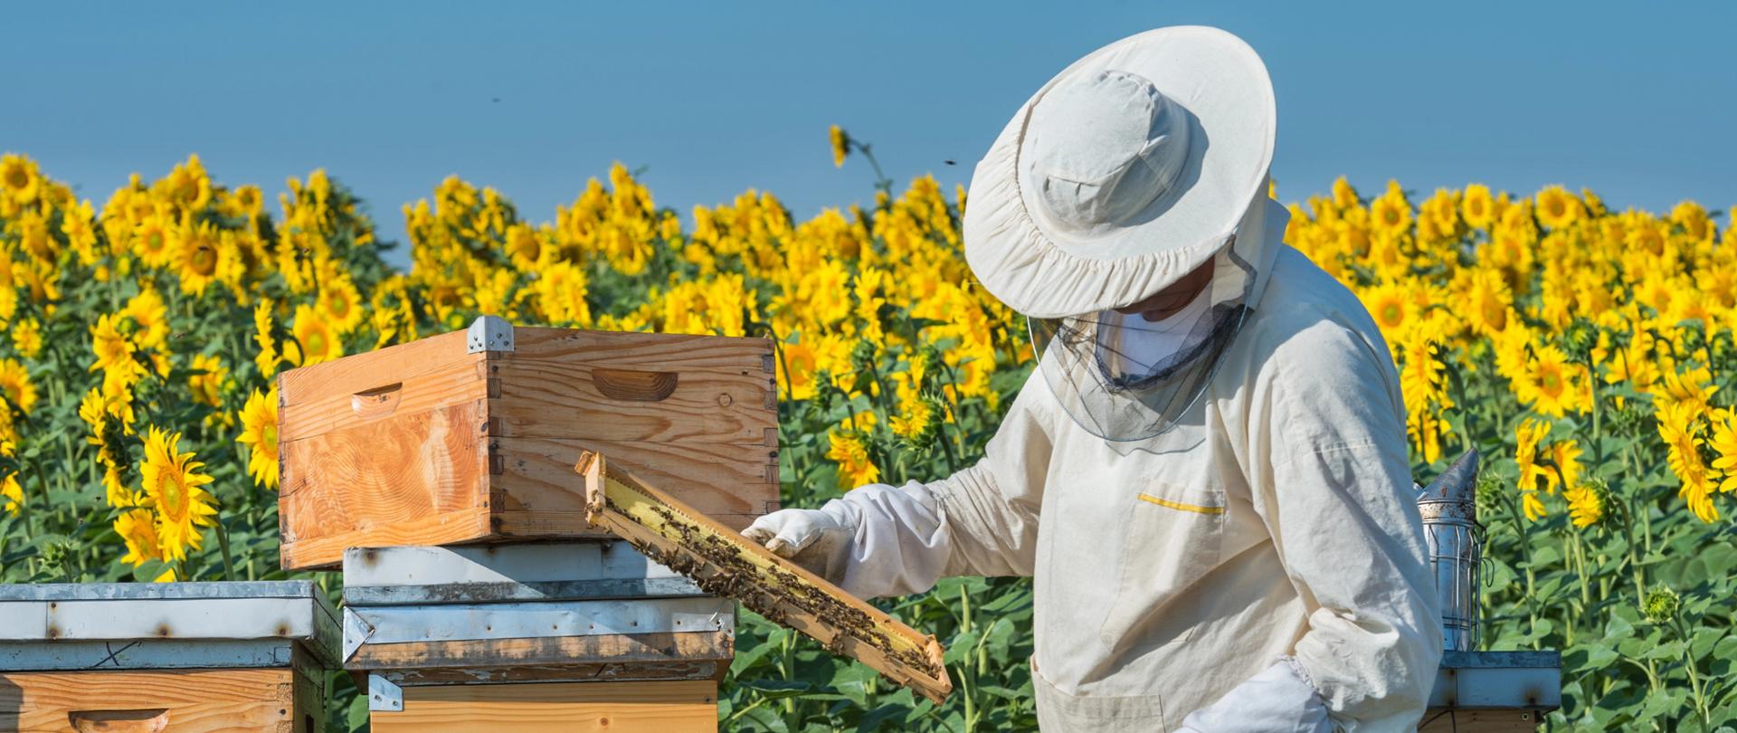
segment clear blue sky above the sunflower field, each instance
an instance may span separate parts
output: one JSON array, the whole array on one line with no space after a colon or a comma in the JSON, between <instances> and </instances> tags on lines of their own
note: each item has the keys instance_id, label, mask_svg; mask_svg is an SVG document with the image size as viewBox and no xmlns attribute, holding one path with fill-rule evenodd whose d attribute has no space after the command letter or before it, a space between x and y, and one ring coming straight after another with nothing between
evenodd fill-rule
<instances>
[{"instance_id":1,"label":"clear blue sky above the sunflower field","mask_svg":"<svg viewBox=\"0 0 1737 733\"><path fill-rule=\"evenodd\" d=\"M900 186L950 189L1032 90L1115 38L1204 23L1278 94L1280 198L1487 182L1614 207L1737 203L1737 3L26 3L0 149L99 205L188 153L269 198L325 167L403 241L459 174L532 221L615 160L688 212L747 188L797 217L865 201L827 125ZM945 160L957 160L948 167ZM400 255L401 259L401 255Z\"/></svg>"}]
</instances>

